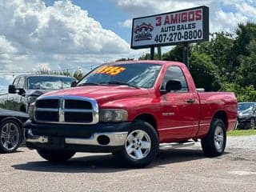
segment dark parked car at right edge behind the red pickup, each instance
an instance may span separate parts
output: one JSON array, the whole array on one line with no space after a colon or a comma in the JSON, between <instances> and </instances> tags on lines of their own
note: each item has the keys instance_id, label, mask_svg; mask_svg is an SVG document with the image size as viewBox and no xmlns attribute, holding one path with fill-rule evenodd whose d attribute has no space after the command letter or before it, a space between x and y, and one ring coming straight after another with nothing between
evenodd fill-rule
<instances>
[{"instance_id":1,"label":"dark parked car at right edge behind the red pickup","mask_svg":"<svg viewBox=\"0 0 256 192\"><path fill-rule=\"evenodd\" d=\"M256 102L238 102L238 128L254 129L256 122Z\"/></svg>"}]
</instances>

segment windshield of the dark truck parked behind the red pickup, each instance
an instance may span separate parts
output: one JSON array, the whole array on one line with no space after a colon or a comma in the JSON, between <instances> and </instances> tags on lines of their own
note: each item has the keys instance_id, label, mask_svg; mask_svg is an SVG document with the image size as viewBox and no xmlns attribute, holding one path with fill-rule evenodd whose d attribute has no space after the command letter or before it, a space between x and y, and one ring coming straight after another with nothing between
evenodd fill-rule
<instances>
[{"instance_id":1,"label":"windshield of the dark truck parked behind the red pickup","mask_svg":"<svg viewBox=\"0 0 256 192\"><path fill-rule=\"evenodd\" d=\"M30 77L28 78L29 90L61 90L71 86L74 78L65 77Z\"/></svg>"}]
</instances>

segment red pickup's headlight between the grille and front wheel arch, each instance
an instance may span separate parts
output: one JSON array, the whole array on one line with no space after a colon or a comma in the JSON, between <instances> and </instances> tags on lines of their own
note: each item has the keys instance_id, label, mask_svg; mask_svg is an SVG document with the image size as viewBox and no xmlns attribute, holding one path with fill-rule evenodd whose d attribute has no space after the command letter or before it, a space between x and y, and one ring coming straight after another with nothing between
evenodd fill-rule
<instances>
[{"instance_id":1,"label":"red pickup's headlight between the grille and front wheel arch","mask_svg":"<svg viewBox=\"0 0 256 192\"><path fill-rule=\"evenodd\" d=\"M126 122L128 112L126 110L100 110L99 120L101 122Z\"/></svg>"}]
</instances>

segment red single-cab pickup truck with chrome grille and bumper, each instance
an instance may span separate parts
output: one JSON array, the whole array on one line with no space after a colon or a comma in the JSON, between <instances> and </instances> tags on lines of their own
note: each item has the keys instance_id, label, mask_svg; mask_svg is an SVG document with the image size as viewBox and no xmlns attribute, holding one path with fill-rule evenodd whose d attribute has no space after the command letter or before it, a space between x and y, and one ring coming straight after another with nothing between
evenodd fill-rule
<instances>
[{"instance_id":1,"label":"red single-cab pickup truck with chrome grille and bumper","mask_svg":"<svg viewBox=\"0 0 256 192\"><path fill-rule=\"evenodd\" d=\"M234 129L233 93L197 90L181 62L129 61L99 66L76 87L39 97L25 123L26 145L48 161L75 152L111 152L126 166L147 166L159 149L201 140L221 155Z\"/></svg>"}]
</instances>

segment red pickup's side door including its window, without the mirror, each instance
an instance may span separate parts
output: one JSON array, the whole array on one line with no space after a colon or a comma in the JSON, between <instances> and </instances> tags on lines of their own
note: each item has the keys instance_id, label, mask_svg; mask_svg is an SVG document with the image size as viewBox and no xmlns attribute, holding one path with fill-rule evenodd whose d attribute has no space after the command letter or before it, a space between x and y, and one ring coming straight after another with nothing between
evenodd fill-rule
<instances>
[{"instance_id":1,"label":"red pickup's side door including its window, without the mirror","mask_svg":"<svg viewBox=\"0 0 256 192\"><path fill-rule=\"evenodd\" d=\"M164 92L166 82L181 82L182 89ZM198 94L189 90L186 78L179 66L170 66L166 70L161 86L162 121L159 134L162 140L175 141L190 138L198 126L199 99Z\"/></svg>"}]
</instances>

